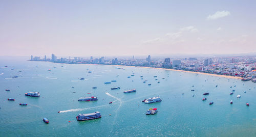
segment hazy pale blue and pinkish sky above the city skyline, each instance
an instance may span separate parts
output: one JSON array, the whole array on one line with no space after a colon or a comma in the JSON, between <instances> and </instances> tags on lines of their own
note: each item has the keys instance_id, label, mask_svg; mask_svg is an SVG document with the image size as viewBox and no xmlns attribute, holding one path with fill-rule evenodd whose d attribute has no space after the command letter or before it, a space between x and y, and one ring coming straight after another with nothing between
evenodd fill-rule
<instances>
[{"instance_id":1,"label":"hazy pale blue and pinkish sky above the city skyline","mask_svg":"<svg viewBox=\"0 0 256 137\"><path fill-rule=\"evenodd\" d=\"M0 56L256 52L256 1L0 1Z\"/></svg>"}]
</instances>

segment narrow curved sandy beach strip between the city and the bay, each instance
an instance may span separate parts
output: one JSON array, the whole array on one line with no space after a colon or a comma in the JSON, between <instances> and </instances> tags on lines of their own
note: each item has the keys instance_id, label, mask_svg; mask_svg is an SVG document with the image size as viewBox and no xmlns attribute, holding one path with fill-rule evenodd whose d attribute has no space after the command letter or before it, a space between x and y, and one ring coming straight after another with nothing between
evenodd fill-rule
<instances>
[{"instance_id":1,"label":"narrow curved sandy beach strip between the city and the bay","mask_svg":"<svg viewBox=\"0 0 256 137\"><path fill-rule=\"evenodd\" d=\"M210 75L210 76L218 76L218 77L232 78L232 79L241 79L242 78L239 76L228 76L228 75L219 75L219 74L194 72L194 71L187 71L187 70L177 70L177 69L167 69L167 68L153 68L153 67L125 66L125 65L111 65L111 64L90 64L90 65L109 65L109 66L118 66L118 67L150 68L150 69L161 69L161 70L170 70L170 71L179 71L179 72L188 72L188 73L203 74L203 75Z\"/></svg>"}]
</instances>

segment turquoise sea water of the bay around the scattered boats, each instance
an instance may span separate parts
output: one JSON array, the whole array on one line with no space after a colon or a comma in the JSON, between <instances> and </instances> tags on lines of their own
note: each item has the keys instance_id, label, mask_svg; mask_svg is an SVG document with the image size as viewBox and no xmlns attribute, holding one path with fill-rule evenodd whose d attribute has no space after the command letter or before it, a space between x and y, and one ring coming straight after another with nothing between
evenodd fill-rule
<instances>
[{"instance_id":1,"label":"turquoise sea water of the bay around the scattered boats","mask_svg":"<svg viewBox=\"0 0 256 137\"><path fill-rule=\"evenodd\" d=\"M151 68L119 66L125 68L122 70L110 65L28 59L0 58L0 136L256 136L256 84L251 81ZM135 76L131 76L133 73ZM82 77L84 80L79 80ZM104 84L111 80L117 81ZM111 90L113 87L121 89ZM137 92L123 93L134 88ZM229 95L232 90L234 94ZM25 96L28 91L40 92L41 96ZM203 96L205 92L209 95ZM241 98L237 99L237 95ZM77 101L91 96L99 100ZM156 96L162 101L142 102ZM202 101L204 97L206 101ZM214 104L209 105L210 101ZM20 102L28 105L20 106ZM245 105L247 102L250 106ZM158 113L145 115L148 108L157 108ZM78 114L95 111L102 118L76 120ZM48 118L49 124L43 118Z\"/></svg>"}]
</instances>

